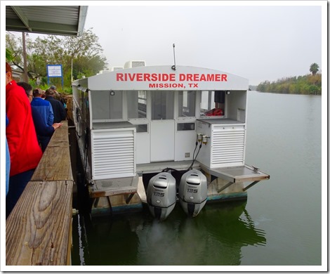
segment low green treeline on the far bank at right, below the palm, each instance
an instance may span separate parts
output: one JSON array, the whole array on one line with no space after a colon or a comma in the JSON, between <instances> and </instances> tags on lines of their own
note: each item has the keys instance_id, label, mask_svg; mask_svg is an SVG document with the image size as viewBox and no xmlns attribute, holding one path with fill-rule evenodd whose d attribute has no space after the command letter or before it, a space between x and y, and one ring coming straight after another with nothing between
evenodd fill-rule
<instances>
[{"instance_id":1,"label":"low green treeline on the far bank at right, below the palm","mask_svg":"<svg viewBox=\"0 0 330 274\"><path fill-rule=\"evenodd\" d=\"M256 91L290 94L322 94L322 74L282 78L277 81L263 81Z\"/></svg>"}]
</instances>

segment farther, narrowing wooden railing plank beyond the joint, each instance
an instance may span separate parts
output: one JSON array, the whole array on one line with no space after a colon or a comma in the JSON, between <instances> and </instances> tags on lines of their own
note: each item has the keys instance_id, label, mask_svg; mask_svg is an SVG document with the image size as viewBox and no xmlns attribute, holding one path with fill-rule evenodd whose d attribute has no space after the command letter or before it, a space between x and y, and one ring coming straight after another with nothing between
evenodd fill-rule
<instances>
[{"instance_id":1,"label":"farther, narrowing wooden railing plank beyond the joint","mask_svg":"<svg viewBox=\"0 0 330 274\"><path fill-rule=\"evenodd\" d=\"M67 121L56 129L31 181L73 181Z\"/></svg>"}]
</instances>

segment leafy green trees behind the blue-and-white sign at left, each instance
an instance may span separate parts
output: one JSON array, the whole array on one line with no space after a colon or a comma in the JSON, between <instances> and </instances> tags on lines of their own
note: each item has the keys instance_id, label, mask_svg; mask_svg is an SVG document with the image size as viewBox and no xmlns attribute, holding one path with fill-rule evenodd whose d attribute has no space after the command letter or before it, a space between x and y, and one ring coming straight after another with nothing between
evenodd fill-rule
<instances>
[{"instance_id":1,"label":"leafy green trees behind the blue-and-white sign at left","mask_svg":"<svg viewBox=\"0 0 330 274\"><path fill-rule=\"evenodd\" d=\"M51 84L62 90L60 78L50 78L47 83L46 65L62 65L64 90L70 91L73 79L83 76L95 75L100 70L105 70L107 60L102 56L103 48L98 43L98 37L92 30L86 30L80 37L47 35L30 39L25 37L27 51L27 73L29 79L37 82L41 79L41 86ZM6 33L6 53L11 51L13 65L24 70L22 58L22 38L10 32ZM73 75L72 75L73 74Z\"/></svg>"}]
</instances>

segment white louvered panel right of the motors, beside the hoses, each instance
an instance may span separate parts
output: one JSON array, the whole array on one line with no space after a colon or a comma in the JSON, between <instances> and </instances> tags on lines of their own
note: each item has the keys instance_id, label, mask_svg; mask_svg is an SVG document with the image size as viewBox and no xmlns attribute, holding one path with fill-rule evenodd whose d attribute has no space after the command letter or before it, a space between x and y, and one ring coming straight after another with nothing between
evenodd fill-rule
<instances>
[{"instance_id":1,"label":"white louvered panel right of the motors, beside the hoses","mask_svg":"<svg viewBox=\"0 0 330 274\"><path fill-rule=\"evenodd\" d=\"M244 126L219 126L213 129L211 166L244 164Z\"/></svg>"}]
</instances>

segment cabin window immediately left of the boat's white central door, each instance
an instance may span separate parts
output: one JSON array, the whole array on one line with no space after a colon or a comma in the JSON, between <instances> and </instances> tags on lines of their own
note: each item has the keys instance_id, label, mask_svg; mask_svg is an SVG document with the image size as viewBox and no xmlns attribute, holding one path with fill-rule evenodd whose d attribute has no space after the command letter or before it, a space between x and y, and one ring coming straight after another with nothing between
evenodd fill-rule
<instances>
[{"instance_id":1,"label":"cabin window immediately left of the boat's white central door","mask_svg":"<svg viewBox=\"0 0 330 274\"><path fill-rule=\"evenodd\" d=\"M127 91L128 118L147 118L147 91Z\"/></svg>"}]
</instances>

